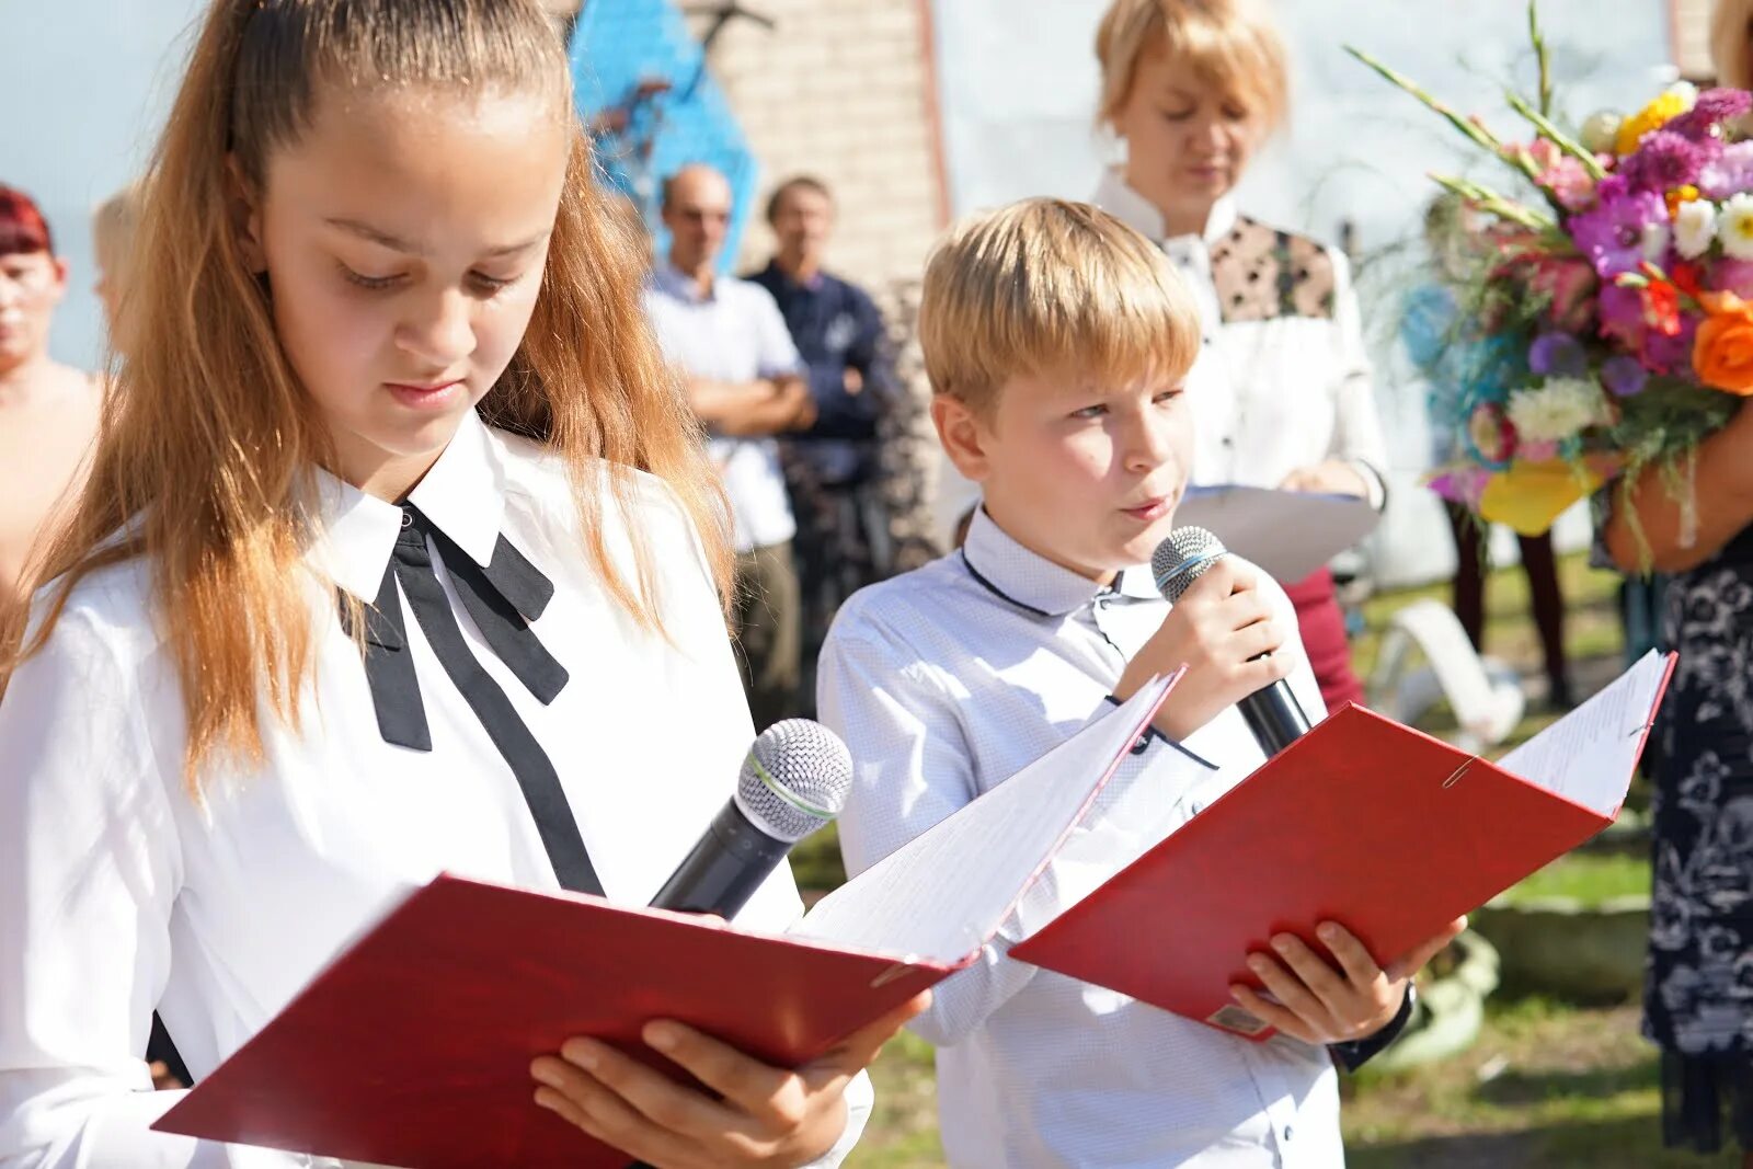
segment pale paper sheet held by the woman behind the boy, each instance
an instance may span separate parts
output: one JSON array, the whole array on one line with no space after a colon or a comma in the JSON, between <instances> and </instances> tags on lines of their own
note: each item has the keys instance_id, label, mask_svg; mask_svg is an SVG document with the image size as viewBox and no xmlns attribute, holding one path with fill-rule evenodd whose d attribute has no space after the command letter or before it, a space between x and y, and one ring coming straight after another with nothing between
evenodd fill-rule
<instances>
[{"instance_id":1,"label":"pale paper sheet held by the woman behind the boy","mask_svg":"<svg viewBox=\"0 0 1753 1169\"><path fill-rule=\"evenodd\" d=\"M1274 580L1302 580L1378 521L1369 499L1273 487L1196 487L1175 510L1176 526L1204 528Z\"/></svg>"}]
</instances>

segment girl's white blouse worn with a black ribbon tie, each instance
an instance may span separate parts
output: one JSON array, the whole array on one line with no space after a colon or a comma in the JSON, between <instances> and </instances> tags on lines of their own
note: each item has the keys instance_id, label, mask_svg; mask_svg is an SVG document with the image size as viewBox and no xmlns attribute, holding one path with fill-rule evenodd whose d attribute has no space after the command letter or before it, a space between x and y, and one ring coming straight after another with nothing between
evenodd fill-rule
<instances>
[{"instance_id":1,"label":"girl's white blouse worn with a black ribbon tie","mask_svg":"<svg viewBox=\"0 0 1753 1169\"><path fill-rule=\"evenodd\" d=\"M303 727L268 720L261 766L182 780L170 647L135 559L79 584L0 703L0 1165L335 1165L149 1132L182 1094L151 1092L158 1008L196 1078L259 1031L337 950L440 871L552 890L512 769L451 684L401 594L431 750L386 741L333 585L370 599L403 512L321 477L305 557L316 654ZM698 538L640 475L668 640L640 629L582 556L564 466L468 415L410 503L486 566L498 538L554 584L533 622L568 671L549 705L487 647L438 566L470 652L557 771L607 896L645 904L735 787L754 727ZM631 568L629 521L603 535ZM778 931L801 904L780 868L738 920ZM531 1094L535 1085L531 1083ZM869 1113L868 1080L833 1165ZM531 1102L531 1108L535 1104Z\"/></svg>"}]
</instances>

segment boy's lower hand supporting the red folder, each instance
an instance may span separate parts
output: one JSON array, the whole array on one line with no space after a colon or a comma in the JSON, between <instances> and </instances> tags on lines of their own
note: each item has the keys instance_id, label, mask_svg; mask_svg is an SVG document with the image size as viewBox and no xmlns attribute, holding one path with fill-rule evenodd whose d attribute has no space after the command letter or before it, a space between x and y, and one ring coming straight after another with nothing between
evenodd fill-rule
<instances>
[{"instance_id":1,"label":"boy's lower hand supporting the red folder","mask_svg":"<svg viewBox=\"0 0 1753 1169\"><path fill-rule=\"evenodd\" d=\"M1278 934L1273 938L1276 957L1248 955L1248 969L1278 1003L1241 983L1229 992L1250 1015L1304 1043L1366 1039L1394 1022L1411 976L1464 929L1467 918L1458 917L1436 938L1427 938L1381 969L1352 931L1338 922L1322 922L1315 934L1338 959L1339 969L1301 938Z\"/></svg>"}]
</instances>

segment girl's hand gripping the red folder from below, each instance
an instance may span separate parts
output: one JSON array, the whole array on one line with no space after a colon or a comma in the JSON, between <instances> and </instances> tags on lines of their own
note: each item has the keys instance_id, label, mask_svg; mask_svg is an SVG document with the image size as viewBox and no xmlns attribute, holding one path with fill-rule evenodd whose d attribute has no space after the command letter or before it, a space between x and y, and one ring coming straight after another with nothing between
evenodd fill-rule
<instances>
[{"instance_id":1,"label":"girl's hand gripping the red folder from below","mask_svg":"<svg viewBox=\"0 0 1753 1169\"><path fill-rule=\"evenodd\" d=\"M529 1074L542 1085L536 1104L657 1169L803 1165L845 1132L847 1083L927 1006L931 992L917 994L798 1071L677 1022L647 1024L645 1041L705 1090L584 1038L535 1060Z\"/></svg>"}]
</instances>

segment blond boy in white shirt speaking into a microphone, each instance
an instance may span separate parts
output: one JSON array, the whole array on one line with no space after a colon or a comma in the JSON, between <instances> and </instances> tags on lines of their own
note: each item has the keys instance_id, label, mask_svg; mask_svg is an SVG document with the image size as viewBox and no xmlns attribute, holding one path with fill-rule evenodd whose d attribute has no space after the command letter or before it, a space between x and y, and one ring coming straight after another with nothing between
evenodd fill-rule
<instances>
[{"instance_id":1,"label":"blond boy in white shirt speaking into a microphone","mask_svg":"<svg viewBox=\"0 0 1753 1169\"><path fill-rule=\"evenodd\" d=\"M855 594L822 650L820 715L857 764L847 868L1185 662L1160 736L1073 841L1085 875L1117 869L1262 762L1238 699L1288 678L1322 710L1276 584L1231 557L1171 608L1143 568L1187 484L1197 312L1141 235L1029 200L938 245L920 340L938 436L983 507L959 552ZM1004 957L1073 883L1050 869L915 1022L938 1045L952 1165L1341 1164L1334 1057L1355 1066L1392 1038L1411 973L1458 929L1387 969L1334 924L1329 955L1288 934L1276 955L1236 955L1276 999L1238 988L1280 1031L1255 1045ZM1139 945L1175 945L1138 929Z\"/></svg>"}]
</instances>

